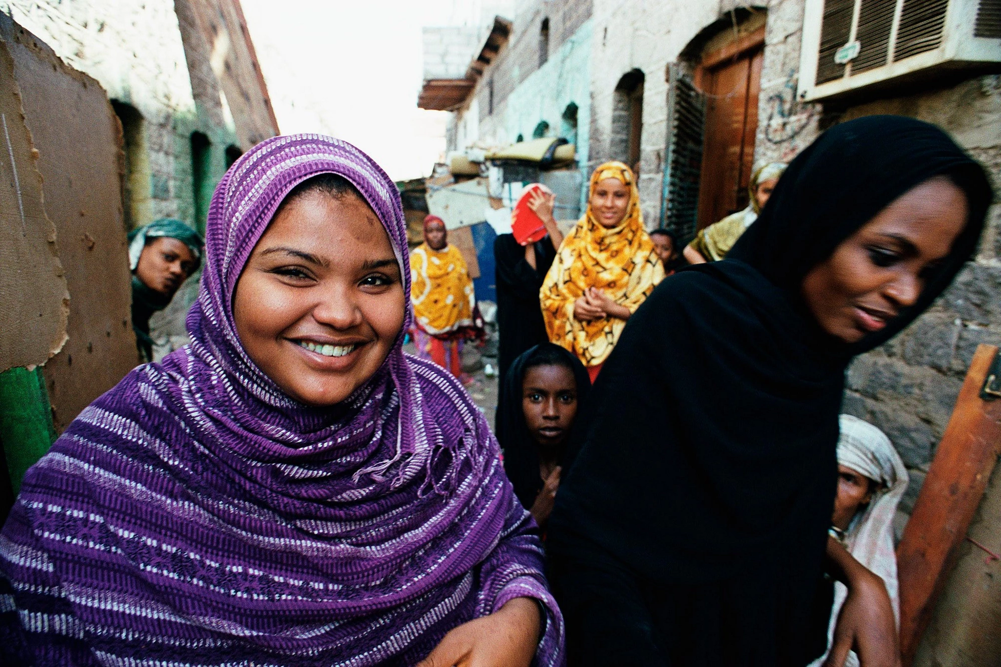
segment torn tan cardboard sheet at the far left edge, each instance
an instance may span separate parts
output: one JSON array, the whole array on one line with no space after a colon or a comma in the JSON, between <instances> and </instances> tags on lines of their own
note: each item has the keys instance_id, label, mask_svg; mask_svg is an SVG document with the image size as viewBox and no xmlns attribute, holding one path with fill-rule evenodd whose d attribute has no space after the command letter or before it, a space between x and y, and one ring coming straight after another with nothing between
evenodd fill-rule
<instances>
[{"instance_id":1,"label":"torn tan cardboard sheet at the far left edge","mask_svg":"<svg viewBox=\"0 0 1001 667\"><path fill-rule=\"evenodd\" d=\"M0 44L0 372L44 364L66 341L69 294L45 216L38 152L14 61Z\"/></svg>"}]
</instances>

